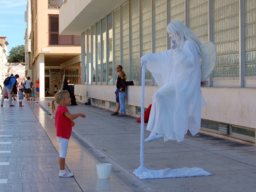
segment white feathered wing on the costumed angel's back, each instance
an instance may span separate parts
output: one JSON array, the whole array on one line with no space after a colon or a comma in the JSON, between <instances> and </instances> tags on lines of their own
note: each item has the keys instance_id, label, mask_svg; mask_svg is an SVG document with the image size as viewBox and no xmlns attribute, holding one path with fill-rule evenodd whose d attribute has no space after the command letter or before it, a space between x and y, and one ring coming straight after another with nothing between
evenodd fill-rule
<instances>
[{"instance_id":1,"label":"white feathered wing on the costumed angel's back","mask_svg":"<svg viewBox=\"0 0 256 192\"><path fill-rule=\"evenodd\" d=\"M216 45L212 42L200 45L199 49L201 51L201 81L204 81L210 76L217 64L217 51Z\"/></svg>"}]
</instances>

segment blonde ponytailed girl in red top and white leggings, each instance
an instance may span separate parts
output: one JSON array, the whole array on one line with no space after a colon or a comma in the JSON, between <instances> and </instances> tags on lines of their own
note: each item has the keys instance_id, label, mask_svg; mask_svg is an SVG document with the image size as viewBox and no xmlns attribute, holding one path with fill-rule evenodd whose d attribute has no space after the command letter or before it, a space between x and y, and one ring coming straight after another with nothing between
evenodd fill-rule
<instances>
[{"instance_id":1,"label":"blonde ponytailed girl in red top and white leggings","mask_svg":"<svg viewBox=\"0 0 256 192\"><path fill-rule=\"evenodd\" d=\"M73 119L78 117L85 118L84 113L70 114L67 106L71 105L71 98L69 97L68 91L60 91L55 94L54 100L50 102L51 106L51 118L54 115L55 104L54 101L59 105L55 114L55 127L56 136L60 145L59 165L60 173L59 177L73 177L74 173L71 173L65 169L65 158L68 150L68 142L71 135L72 127L75 125Z\"/></svg>"}]
</instances>

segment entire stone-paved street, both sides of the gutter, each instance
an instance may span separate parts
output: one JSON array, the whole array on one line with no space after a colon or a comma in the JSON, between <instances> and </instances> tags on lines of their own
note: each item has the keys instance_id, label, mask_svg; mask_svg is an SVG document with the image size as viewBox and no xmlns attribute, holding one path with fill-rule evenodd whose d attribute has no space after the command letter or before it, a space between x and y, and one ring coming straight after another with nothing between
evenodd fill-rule
<instances>
[{"instance_id":1,"label":"entire stone-paved street, both sides of the gutter","mask_svg":"<svg viewBox=\"0 0 256 192\"><path fill-rule=\"evenodd\" d=\"M47 103L52 99L40 103L50 109ZM140 166L137 119L111 116L109 110L82 103L68 106L70 113L86 114L86 119L74 120L72 138L80 147L72 141L67 155L66 164L75 177L58 178L54 121L34 101L23 103L25 107L9 107L5 101L0 108L0 135L12 135L0 137L1 142L12 142L0 144L0 150L11 150L0 156L0 162L10 162L0 164L0 179L8 179L0 184L0 191L255 191L256 147L205 134L188 133L180 143L161 139L145 143L145 166L154 170L201 167L212 176L138 179L132 174ZM150 134L144 133L145 138ZM102 161L114 162L112 177L105 183L95 174L96 162Z\"/></svg>"}]
</instances>

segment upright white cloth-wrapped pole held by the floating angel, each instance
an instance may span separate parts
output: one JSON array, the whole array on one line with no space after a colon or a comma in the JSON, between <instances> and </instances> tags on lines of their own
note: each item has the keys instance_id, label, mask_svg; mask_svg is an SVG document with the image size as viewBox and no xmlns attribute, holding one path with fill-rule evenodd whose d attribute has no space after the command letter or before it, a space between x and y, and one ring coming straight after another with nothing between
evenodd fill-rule
<instances>
[{"instance_id":1,"label":"upright white cloth-wrapped pole held by the floating angel","mask_svg":"<svg viewBox=\"0 0 256 192\"><path fill-rule=\"evenodd\" d=\"M141 75L141 167L144 166L144 97L146 66L142 65Z\"/></svg>"}]
</instances>

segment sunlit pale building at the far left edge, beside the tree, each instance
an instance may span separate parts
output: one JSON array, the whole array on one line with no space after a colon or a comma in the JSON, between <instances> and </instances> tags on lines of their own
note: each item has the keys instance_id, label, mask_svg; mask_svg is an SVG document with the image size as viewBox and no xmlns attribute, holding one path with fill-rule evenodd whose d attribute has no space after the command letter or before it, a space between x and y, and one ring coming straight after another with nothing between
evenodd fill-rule
<instances>
[{"instance_id":1,"label":"sunlit pale building at the far left edge, beside the tree","mask_svg":"<svg viewBox=\"0 0 256 192\"><path fill-rule=\"evenodd\" d=\"M0 36L0 83L2 87L5 78L8 77L7 45L9 43L6 41L6 36Z\"/></svg>"}]
</instances>

